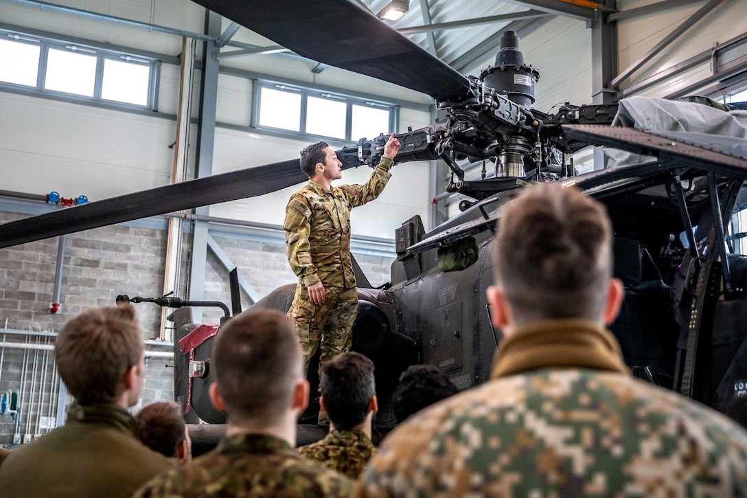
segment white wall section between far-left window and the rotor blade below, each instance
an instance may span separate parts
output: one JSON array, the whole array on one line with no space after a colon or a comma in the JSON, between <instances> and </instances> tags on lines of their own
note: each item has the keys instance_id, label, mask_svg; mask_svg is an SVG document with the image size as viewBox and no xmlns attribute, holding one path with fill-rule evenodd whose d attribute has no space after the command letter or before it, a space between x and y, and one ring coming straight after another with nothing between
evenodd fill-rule
<instances>
[{"instance_id":1,"label":"white wall section between far-left window and the rotor blade below","mask_svg":"<svg viewBox=\"0 0 747 498\"><path fill-rule=\"evenodd\" d=\"M170 181L170 120L5 92L0 108L4 190L98 200Z\"/></svg>"}]
</instances>

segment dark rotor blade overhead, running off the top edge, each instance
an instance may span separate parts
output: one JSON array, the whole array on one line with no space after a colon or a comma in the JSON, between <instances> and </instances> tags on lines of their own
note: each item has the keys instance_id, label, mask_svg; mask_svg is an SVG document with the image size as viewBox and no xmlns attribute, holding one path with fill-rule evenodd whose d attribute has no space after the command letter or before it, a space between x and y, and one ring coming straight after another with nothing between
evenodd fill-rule
<instances>
[{"instance_id":1,"label":"dark rotor blade overhead, running off the top edge","mask_svg":"<svg viewBox=\"0 0 747 498\"><path fill-rule=\"evenodd\" d=\"M193 1L313 61L427 93L440 102L470 95L468 79L356 0Z\"/></svg>"}]
</instances>

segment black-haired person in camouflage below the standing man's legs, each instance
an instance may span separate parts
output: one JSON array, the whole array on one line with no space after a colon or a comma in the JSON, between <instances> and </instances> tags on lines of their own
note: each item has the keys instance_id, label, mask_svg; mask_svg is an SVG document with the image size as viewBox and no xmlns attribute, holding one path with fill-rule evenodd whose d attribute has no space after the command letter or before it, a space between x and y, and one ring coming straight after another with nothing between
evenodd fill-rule
<instances>
[{"instance_id":1,"label":"black-haired person in camouflage below the standing man's legs","mask_svg":"<svg viewBox=\"0 0 747 498\"><path fill-rule=\"evenodd\" d=\"M301 446L301 455L358 479L373 455L371 422L378 410L373 362L347 351L322 365L321 407L329 414L329 434Z\"/></svg>"}]
</instances>

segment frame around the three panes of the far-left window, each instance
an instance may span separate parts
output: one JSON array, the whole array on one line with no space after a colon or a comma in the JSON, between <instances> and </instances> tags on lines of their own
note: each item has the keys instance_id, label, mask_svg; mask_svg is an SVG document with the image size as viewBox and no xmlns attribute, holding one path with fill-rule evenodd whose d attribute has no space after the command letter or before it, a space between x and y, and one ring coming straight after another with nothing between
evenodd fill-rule
<instances>
[{"instance_id":1,"label":"frame around the three panes of the far-left window","mask_svg":"<svg viewBox=\"0 0 747 498\"><path fill-rule=\"evenodd\" d=\"M55 98L61 99L72 99L79 102L95 102L97 105L102 105L103 107L129 108L141 111L158 111L158 79L161 73L161 61L158 61L158 59L149 58L143 55L135 55L127 52L120 52L117 50L104 49L102 47L73 41L57 40L54 38L43 37L35 34L26 34L20 31L11 31L1 28L0 37L3 40L7 39L11 42L15 41L17 43L34 44L40 47L36 86L32 87L25 84L0 82L0 89L7 88L13 90L22 90L29 93L55 96ZM85 96L79 93L68 93L59 90L50 90L44 87L46 82L47 60L50 49L61 50L63 52L81 52L87 55L96 56L96 76L93 82L93 96ZM102 98L104 63L108 59L123 61L128 64L147 66L149 68L149 79L145 105Z\"/></svg>"}]
</instances>

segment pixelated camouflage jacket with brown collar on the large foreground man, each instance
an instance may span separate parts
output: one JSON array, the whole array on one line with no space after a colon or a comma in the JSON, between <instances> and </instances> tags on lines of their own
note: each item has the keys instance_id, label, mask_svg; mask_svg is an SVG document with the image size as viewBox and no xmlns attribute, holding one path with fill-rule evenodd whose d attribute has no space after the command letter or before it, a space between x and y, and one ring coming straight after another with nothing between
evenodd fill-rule
<instances>
[{"instance_id":1,"label":"pixelated camouflage jacket with brown collar on the large foreground man","mask_svg":"<svg viewBox=\"0 0 747 498\"><path fill-rule=\"evenodd\" d=\"M615 339L589 322L567 347L558 322L515 331L491 381L392 431L354 496L747 496L743 428L620 372ZM587 366L597 354L608 364Z\"/></svg>"}]
</instances>

